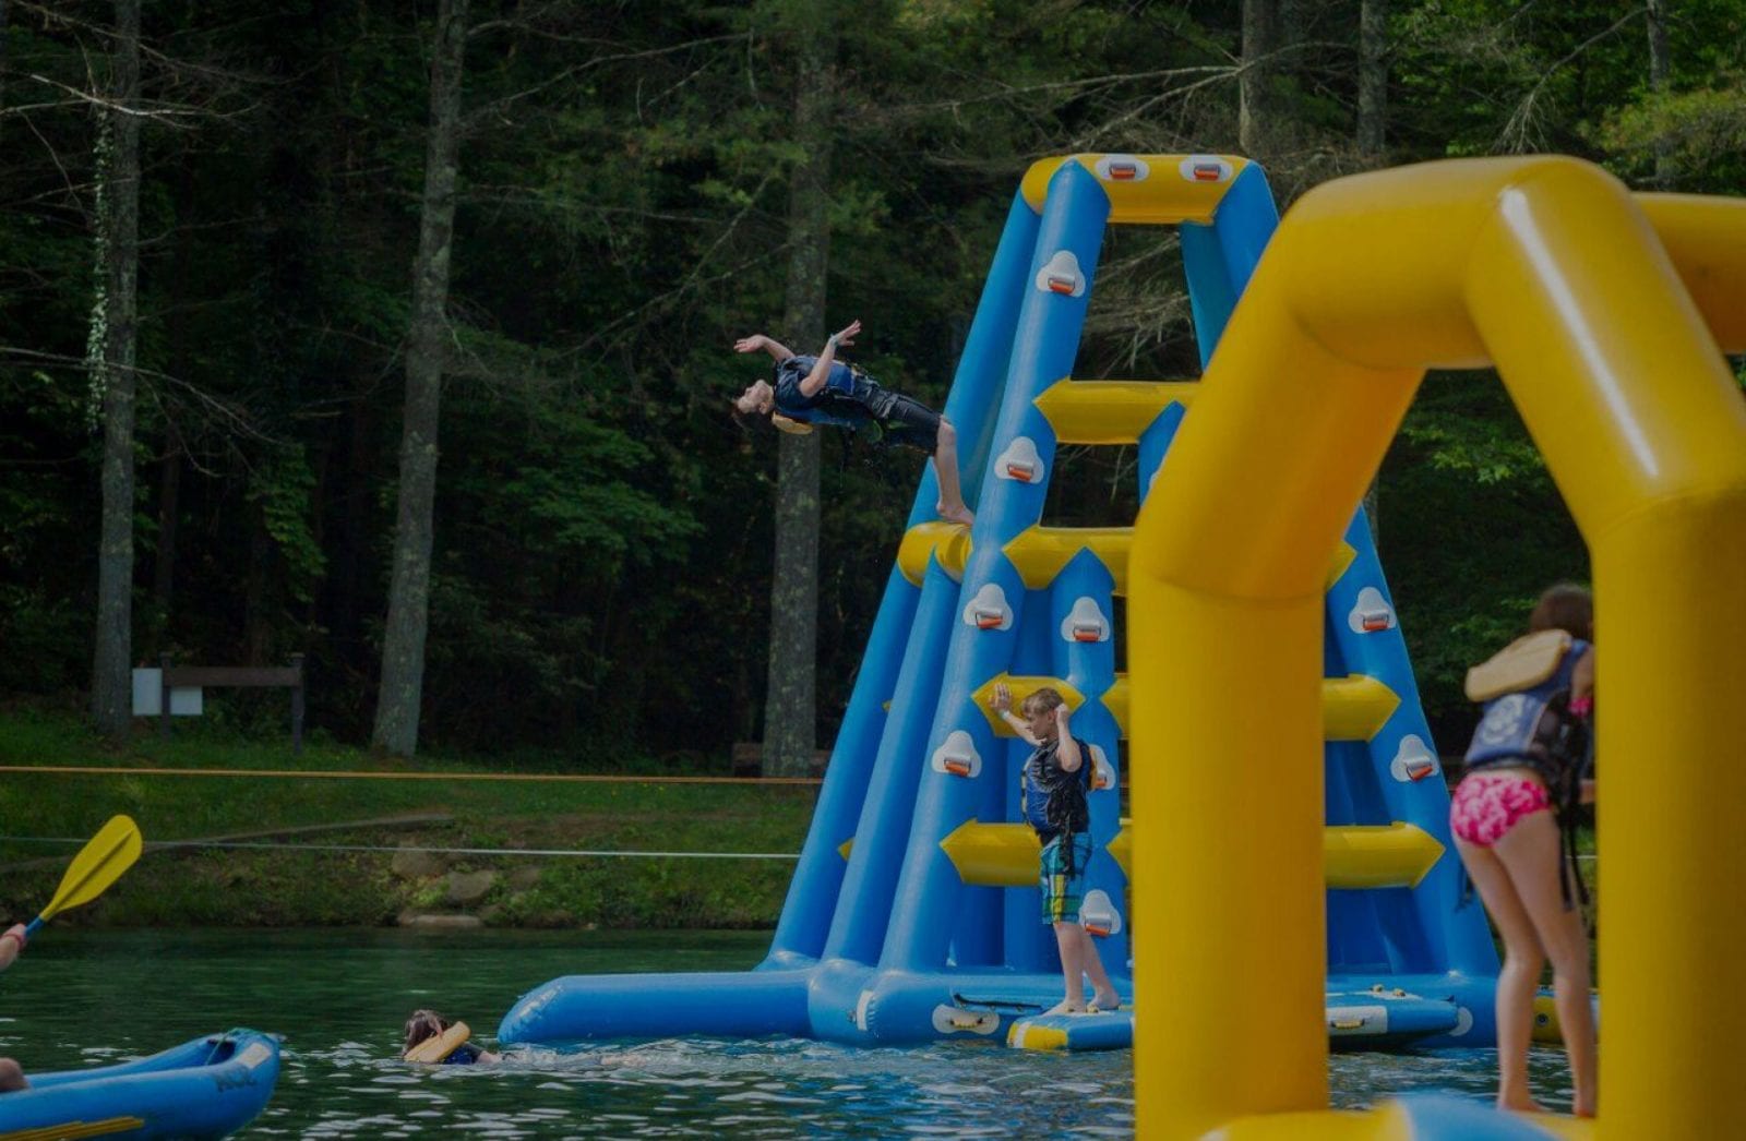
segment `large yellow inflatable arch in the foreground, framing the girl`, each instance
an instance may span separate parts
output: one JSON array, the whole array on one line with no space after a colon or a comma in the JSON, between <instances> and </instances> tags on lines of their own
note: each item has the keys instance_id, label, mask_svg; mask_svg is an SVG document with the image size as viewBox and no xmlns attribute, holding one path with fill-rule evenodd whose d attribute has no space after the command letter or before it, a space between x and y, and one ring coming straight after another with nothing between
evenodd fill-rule
<instances>
[{"instance_id":1,"label":"large yellow inflatable arch in the foreground, framing the girl","mask_svg":"<svg viewBox=\"0 0 1746 1141\"><path fill-rule=\"evenodd\" d=\"M1559 1131L1746 1136L1746 400L1722 351L1746 351L1746 201L1495 159L1285 218L1130 564L1135 986L1168 1012L1137 1026L1142 1134L1392 1136L1325 1110L1322 588L1425 370L1495 363L1589 543L1603 646L1601 1118Z\"/></svg>"}]
</instances>

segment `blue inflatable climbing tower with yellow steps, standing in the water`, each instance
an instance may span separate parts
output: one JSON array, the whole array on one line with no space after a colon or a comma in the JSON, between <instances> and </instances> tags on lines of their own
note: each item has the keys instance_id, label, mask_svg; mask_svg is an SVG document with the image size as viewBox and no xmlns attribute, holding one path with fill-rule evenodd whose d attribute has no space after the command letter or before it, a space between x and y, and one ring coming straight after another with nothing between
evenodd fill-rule
<instances>
[{"instance_id":1,"label":"blue inflatable climbing tower with yellow steps, standing in the water","mask_svg":"<svg viewBox=\"0 0 1746 1141\"><path fill-rule=\"evenodd\" d=\"M1177 229L1201 365L1227 351L1220 340L1278 225L1259 166L1219 155L1035 164L1014 197L946 401L974 529L932 518L929 469L768 958L749 974L557 979L508 1012L501 1042L798 1035L1131 1043L1133 1010L1035 1021L1060 1001L1062 977L1053 932L1039 919L1037 843L1020 823L1028 748L986 701L1004 682L1014 703L1053 686L1072 705L1074 733L1095 761L1083 923L1123 996L1147 1017L1151 996L1130 984L1133 843L1121 813L1135 710L1116 668L1117 642L1130 639L1117 600L1128 591L1133 530L1051 527L1044 502L1062 445L1131 447L1144 511L1172 511L1168 489L1152 494L1154 480L1179 427L1196 415L1200 382L1074 375L1109 225ZM1289 372L1282 366L1282 382ZM1282 410L1266 447L1290 438L1290 415ZM1275 489L1245 490L1266 497ZM1289 489L1276 490L1289 501ZM1318 630L1325 1031L1341 1047L1486 1045L1496 956L1479 905L1460 907L1447 790L1388 584L1353 504L1357 495L1344 504L1343 537L1325 548ZM1151 637L1163 652L1175 642L1172 630ZM1245 750L1261 748L1254 722L1271 715L1261 680L1229 682L1254 696L1227 726ZM1172 773L1156 778L1168 785ZM1179 813L1210 816L1245 850L1208 850L1200 860L1271 860L1266 834L1234 799L1168 803L1156 825L1137 827L1173 827ZM1179 902L1149 921L1159 930L1191 925L1193 900Z\"/></svg>"}]
</instances>

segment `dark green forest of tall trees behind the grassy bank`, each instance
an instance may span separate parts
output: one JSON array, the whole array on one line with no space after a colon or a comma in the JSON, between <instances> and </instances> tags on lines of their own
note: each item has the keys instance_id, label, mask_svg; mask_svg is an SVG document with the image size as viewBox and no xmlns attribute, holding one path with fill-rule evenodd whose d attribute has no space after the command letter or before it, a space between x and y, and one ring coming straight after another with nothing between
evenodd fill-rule
<instances>
[{"instance_id":1,"label":"dark green forest of tall trees behind the grassy bank","mask_svg":"<svg viewBox=\"0 0 1746 1141\"><path fill-rule=\"evenodd\" d=\"M131 665L302 652L335 741L803 768L920 461L744 433L732 344L859 318L939 407L1020 174L1088 150L1746 194L1746 3L0 0L0 694L120 736ZM1076 375L1196 372L1173 237L1112 230ZM1046 520L1130 523L1133 466L1070 450ZM1475 375L1372 509L1458 750L1582 541Z\"/></svg>"}]
</instances>

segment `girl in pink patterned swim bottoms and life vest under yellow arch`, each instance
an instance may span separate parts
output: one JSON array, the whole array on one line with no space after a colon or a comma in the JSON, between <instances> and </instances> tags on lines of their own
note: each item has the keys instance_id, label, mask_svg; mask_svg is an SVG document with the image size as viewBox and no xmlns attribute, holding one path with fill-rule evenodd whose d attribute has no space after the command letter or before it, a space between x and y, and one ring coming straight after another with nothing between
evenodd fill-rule
<instances>
[{"instance_id":1,"label":"girl in pink patterned swim bottoms and life vest under yellow arch","mask_svg":"<svg viewBox=\"0 0 1746 1141\"><path fill-rule=\"evenodd\" d=\"M1503 937L1498 974L1498 1108L1540 1106L1528 1094L1528 1042L1533 1033L1533 996L1540 972L1552 960L1557 1003L1577 1117L1594 1117L1596 1038L1589 1007L1589 937L1582 912L1570 902L1559 825L1547 790L1547 736L1554 721L1587 721L1594 703L1594 600L1580 586L1554 586L1540 597L1528 619L1531 633L1505 654L1468 675L1468 696L1486 701L1484 717L1467 752L1468 775L1454 790L1449 825L1467 874L1479 888ZM1545 633L1545 632L1563 632ZM1481 686L1507 654L1526 651L1542 663L1519 689ZM1568 714L1563 701L1568 698ZM1582 783L1582 801L1594 797ZM1568 869L1577 874L1575 867Z\"/></svg>"}]
</instances>

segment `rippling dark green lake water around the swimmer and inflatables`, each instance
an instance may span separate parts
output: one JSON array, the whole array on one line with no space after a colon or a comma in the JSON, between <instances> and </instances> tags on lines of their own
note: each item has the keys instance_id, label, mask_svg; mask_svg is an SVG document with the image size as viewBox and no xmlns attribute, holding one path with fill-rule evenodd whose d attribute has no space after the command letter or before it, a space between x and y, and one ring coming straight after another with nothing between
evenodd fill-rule
<instances>
[{"instance_id":1,"label":"rippling dark green lake water around the swimmer and inflatables","mask_svg":"<svg viewBox=\"0 0 1746 1141\"><path fill-rule=\"evenodd\" d=\"M739 970L766 933L75 932L49 928L0 974L0 1054L70 1069L251 1026L285 1064L251 1138L815 1138L1133 1134L1133 1056L997 1043L861 1050L663 1040L503 1066L400 1064L416 1007L489 1038L515 998L562 974ZM1334 1103L1444 1090L1489 1101L1489 1050L1332 1059ZM1535 1092L1568 1110L1564 1056Z\"/></svg>"}]
</instances>

